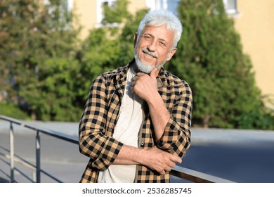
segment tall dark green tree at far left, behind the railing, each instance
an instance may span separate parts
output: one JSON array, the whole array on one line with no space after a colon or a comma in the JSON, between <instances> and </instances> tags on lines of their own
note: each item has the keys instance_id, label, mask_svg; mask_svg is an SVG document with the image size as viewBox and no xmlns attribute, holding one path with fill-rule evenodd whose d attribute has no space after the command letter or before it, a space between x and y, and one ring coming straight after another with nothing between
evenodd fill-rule
<instances>
[{"instance_id":1,"label":"tall dark green tree at far left, behind the railing","mask_svg":"<svg viewBox=\"0 0 274 197\"><path fill-rule=\"evenodd\" d=\"M10 100L34 119L76 120L77 31L65 1L4 0L0 6L1 75Z\"/></svg>"}]
</instances>

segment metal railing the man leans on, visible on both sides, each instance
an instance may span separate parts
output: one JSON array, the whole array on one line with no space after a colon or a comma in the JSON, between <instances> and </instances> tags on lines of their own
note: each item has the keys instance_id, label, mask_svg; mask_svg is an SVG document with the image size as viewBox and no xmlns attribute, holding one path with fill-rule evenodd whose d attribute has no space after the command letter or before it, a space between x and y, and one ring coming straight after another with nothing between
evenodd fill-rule
<instances>
[{"instance_id":1,"label":"metal railing the man leans on, visible on both sides","mask_svg":"<svg viewBox=\"0 0 274 197\"><path fill-rule=\"evenodd\" d=\"M0 172L4 173L7 177L10 178L10 182L16 182L15 181L15 171L19 172L22 174L23 177L27 178L30 182L41 182L41 173L45 174L48 177L51 177L51 179L55 180L56 182L62 182L60 179L54 177L52 174L49 174L45 170L41 169L41 153L40 153L40 133L53 136L57 139L61 139L67 142L70 142L72 144L78 144L78 138L66 134L62 134L60 132L53 132L50 129L44 129L41 127L37 127L34 125L29 125L25 124L24 122L21 122L20 120L16 120L11 117L6 117L4 115L0 115L0 120L4 120L7 122L10 122L10 129L9 129L9 134L10 134L10 147L9 150L8 148L5 148L0 145L0 160L2 160L6 165L9 165L10 167L10 174L7 174L3 170L0 169ZM24 158L21 158L19 155L15 154L14 151L14 131L13 131L13 124L15 125L20 125L21 127L25 127L31 130L34 130L36 132L36 159L35 159L35 165L30 163L30 161L25 160ZM2 151L1 151L2 150ZM5 152L5 153L4 153ZM9 163L4 160L4 158L9 160ZM20 163L21 165L24 165L25 167L28 167L32 170L34 170L33 177L30 179L27 177L27 175L19 170L17 167L15 167L15 163ZM197 182L197 183L229 183L231 181L227 179L222 179L220 177L214 177L209 174L204 174L202 172L197 172L195 170L190 170L185 167L180 167L176 166L174 167L170 174L174 177L178 177L181 179L185 179L189 182Z\"/></svg>"}]
</instances>

